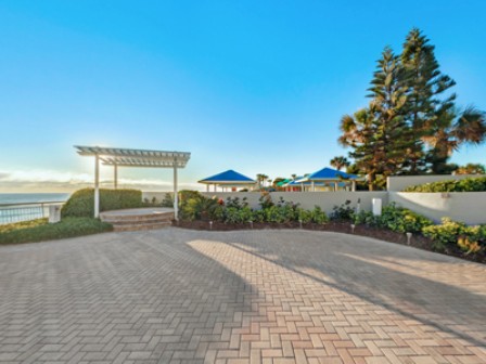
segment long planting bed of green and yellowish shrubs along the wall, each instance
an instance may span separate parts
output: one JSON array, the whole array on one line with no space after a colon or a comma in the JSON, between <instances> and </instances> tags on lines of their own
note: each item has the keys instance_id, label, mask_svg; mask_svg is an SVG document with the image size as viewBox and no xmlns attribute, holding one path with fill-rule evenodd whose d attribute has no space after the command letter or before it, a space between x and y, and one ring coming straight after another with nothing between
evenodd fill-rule
<instances>
[{"instance_id":1,"label":"long planting bed of green and yellowish shrubs along the wall","mask_svg":"<svg viewBox=\"0 0 486 364\"><path fill-rule=\"evenodd\" d=\"M231 231L261 229L304 229L355 234L385 242L409 245L462 259L486 263L486 225L468 226L444 219L442 224L411 210L391 204L380 217L356 211L349 202L336 206L328 217L319 208L303 210L297 205L260 198L260 209L246 202L228 198L215 200L191 192L181 203L181 220L174 225L195 230ZM411 233L410 239L407 233Z\"/></svg>"}]
</instances>

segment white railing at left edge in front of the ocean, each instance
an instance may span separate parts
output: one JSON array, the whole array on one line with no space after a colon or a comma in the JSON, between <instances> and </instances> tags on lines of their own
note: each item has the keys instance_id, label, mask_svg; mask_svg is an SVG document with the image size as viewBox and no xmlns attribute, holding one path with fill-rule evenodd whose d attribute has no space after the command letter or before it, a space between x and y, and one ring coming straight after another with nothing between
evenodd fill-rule
<instances>
[{"instance_id":1,"label":"white railing at left edge in front of the ocean","mask_svg":"<svg viewBox=\"0 0 486 364\"><path fill-rule=\"evenodd\" d=\"M49 217L49 206L65 202L0 204L0 224L28 221Z\"/></svg>"}]
</instances>

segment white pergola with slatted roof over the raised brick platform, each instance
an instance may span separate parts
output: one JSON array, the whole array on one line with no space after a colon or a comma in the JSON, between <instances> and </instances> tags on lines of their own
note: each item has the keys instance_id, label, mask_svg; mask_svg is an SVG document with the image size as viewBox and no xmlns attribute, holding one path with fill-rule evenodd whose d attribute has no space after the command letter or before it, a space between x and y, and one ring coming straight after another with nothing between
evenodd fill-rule
<instances>
[{"instance_id":1,"label":"white pergola with slatted roof over the raised brick platform","mask_svg":"<svg viewBox=\"0 0 486 364\"><path fill-rule=\"evenodd\" d=\"M187 152L127 150L102 146L74 146L81 156L94 157L94 217L100 217L100 160L113 166L114 186L118 187L118 167L174 168L174 213L178 219L177 170L191 158Z\"/></svg>"}]
</instances>

